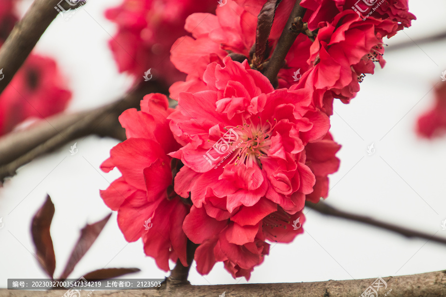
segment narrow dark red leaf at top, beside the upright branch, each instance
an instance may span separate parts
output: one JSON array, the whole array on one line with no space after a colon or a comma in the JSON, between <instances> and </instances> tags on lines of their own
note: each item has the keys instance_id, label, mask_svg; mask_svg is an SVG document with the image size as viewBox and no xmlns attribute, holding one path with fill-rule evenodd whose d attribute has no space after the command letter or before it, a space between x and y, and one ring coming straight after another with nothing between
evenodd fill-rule
<instances>
[{"instance_id":1,"label":"narrow dark red leaf at top, beside the upright branch","mask_svg":"<svg viewBox=\"0 0 446 297\"><path fill-rule=\"evenodd\" d=\"M281 0L268 0L257 17L256 58L261 64L267 58L268 38L273 27L274 16Z\"/></svg>"}]
</instances>

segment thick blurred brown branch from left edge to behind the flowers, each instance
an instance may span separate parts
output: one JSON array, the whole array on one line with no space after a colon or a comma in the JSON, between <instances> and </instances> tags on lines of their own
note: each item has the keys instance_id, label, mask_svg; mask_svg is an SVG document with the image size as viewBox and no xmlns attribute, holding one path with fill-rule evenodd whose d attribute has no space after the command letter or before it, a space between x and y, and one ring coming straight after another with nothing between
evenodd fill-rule
<instances>
[{"instance_id":1,"label":"thick blurred brown branch from left edge to behind the flowers","mask_svg":"<svg viewBox=\"0 0 446 297\"><path fill-rule=\"evenodd\" d=\"M77 138L96 134L124 140L125 134L120 128L118 116L128 108L139 108L144 95L166 91L156 82L143 82L125 98L106 106L71 115L60 114L50 121L51 126L42 122L25 131L1 138L0 182L5 177L13 176L17 168L34 158Z\"/></svg>"}]
</instances>

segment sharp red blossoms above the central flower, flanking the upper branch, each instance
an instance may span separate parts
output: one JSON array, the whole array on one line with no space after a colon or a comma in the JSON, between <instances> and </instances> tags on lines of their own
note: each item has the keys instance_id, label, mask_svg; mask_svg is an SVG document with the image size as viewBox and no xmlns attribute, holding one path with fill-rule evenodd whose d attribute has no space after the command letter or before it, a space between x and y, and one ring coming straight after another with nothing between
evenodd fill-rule
<instances>
[{"instance_id":1,"label":"sharp red blossoms above the central flower, flanking the upper branch","mask_svg":"<svg viewBox=\"0 0 446 297\"><path fill-rule=\"evenodd\" d=\"M284 0L277 8L269 36L271 51L294 2ZM253 65L250 50L255 44L257 14L264 3L264 0L228 0L217 8L216 15L197 13L186 19L185 29L192 37L176 41L171 61L187 78L170 87L171 98L177 99L181 91L202 88L206 65L213 61L221 64L228 53L244 55L251 67L258 66ZM367 5L350 0L303 0L301 5L307 8L304 20L316 40L312 42L303 34L297 37L279 71L279 87L298 84L293 88L310 89L313 105L328 115L333 114L335 98L348 103L356 96L365 75L374 73L374 62L385 65L383 38L395 35L415 19L408 12L407 0L378 4L377 0L369 0ZM366 18L365 12L371 12L370 16ZM257 68L262 70L262 65Z\"/></svg>"}]
</instances>

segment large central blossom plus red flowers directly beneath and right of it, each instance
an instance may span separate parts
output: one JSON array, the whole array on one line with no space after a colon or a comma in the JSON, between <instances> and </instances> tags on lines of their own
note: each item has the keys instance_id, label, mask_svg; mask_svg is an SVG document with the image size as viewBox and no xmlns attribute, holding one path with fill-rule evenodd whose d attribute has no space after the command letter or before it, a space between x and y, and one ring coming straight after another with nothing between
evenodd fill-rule
<instances>
[{"instance_id":1,"label":"large central blossom plus red flowers directly beneath and right of it","mask_svg":"<svg viewBox=\"0 0 446 297\"><path fill-rule=\"evenodd\" d=\"M203 81L205 90L180 93L169 116L182 146L170 155L184 164L174 190L194 205L183 229L201 244L200 273L223 261L234 277L249 278L268 253L267 240L288 243L303 232L292 223L303 223L314 189L315 202L327 194L339 146L308 90L275 90L247 60L211 63Z\"/></svg>"}]
</instances>

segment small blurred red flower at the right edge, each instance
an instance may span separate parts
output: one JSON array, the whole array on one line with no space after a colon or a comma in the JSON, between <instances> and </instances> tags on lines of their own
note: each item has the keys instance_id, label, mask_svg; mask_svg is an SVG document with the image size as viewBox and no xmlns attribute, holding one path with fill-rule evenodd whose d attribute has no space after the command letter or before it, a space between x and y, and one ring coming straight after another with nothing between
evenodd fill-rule
<instances>
[{"instance_id":1,"label":"small blurred red flower at the right edge","mask_svg":"<svg viewBox=\"0 0 446 297\"><path fill-rule=\"evenodd\" d=\"M435 89L434 108L418 118L418 135L426 138L442 136L446 133L446 83Z\"/></svg>"}]
</instances>

